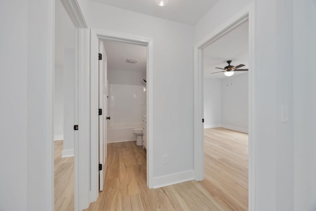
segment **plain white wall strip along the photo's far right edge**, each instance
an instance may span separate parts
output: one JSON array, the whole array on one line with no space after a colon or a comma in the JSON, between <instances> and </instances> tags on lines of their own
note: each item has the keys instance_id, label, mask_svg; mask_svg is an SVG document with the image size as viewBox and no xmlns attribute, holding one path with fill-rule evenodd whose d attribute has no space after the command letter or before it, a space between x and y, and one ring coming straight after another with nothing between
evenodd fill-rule
<instances>
[{"instance_id":1,"label":"plain white wall strip along the photo's far right edge","mask_svg":"<svg viewBox=\"0 0 316 211\"><path fill-rule=\"evenodd\" d=\"M316 210L316 1L294 0L294 210Z\"/></svg>"}]
</instances>

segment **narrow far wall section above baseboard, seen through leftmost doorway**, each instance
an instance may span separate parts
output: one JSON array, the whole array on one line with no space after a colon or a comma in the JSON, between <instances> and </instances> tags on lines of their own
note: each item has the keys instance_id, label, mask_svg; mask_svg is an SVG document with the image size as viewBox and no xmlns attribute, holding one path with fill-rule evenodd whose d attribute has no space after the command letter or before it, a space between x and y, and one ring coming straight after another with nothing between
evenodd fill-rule
<instances>
[{"instance_id":1,"label":"narrow far wall section above baseboard, seen through leftmost doorway","mask_svg":"<svg viewBox=\"0 0 316 211\"><path fill-rule=\"evenodd\" d=\"M64 76L63 66L55 64L54 140L64 140ZM62 128L60 128L62 127Z\"/></svg>"}]
</instances>

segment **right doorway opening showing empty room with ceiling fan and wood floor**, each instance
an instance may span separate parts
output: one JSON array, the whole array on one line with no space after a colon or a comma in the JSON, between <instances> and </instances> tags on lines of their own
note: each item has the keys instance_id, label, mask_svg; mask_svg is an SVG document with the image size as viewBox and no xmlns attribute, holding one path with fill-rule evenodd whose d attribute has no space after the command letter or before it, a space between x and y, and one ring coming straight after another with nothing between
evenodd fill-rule
<instances>
[{"instance_id":1,"label":"right doorway opening showing empty room with ceiling fan and wood floor","mask_svg":"<svg viewBox=\"0 0 316 211\"><path fill-rule=\"evenodd\" d=\"M226 210L248 210L248 25L202 49L202 184Z\"/></svg>"}]
</instances>

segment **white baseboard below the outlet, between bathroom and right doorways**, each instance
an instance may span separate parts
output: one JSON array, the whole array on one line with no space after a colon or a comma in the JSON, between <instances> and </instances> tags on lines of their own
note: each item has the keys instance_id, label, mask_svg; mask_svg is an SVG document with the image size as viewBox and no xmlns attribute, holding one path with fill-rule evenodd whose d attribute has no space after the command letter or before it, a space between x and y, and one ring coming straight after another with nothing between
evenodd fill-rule
<instances>
[{"instance_id":1,"label":"white baseboard below the outlet, between bathroom and right doorways","mask_svg":"<svg viewBox=\"0 0 316 211\"><path fill-rule=\"evenodd\" d=\"M194 179L194 170L182 171L179 173L158 176L154 178L154 188L174 185Z\"/></svg>"}]
</instances>

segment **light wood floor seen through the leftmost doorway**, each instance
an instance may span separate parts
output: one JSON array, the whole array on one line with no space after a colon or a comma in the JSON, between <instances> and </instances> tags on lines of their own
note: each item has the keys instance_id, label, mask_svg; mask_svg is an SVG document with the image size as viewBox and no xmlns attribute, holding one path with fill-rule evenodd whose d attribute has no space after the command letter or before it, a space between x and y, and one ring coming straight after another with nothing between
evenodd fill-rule
<instances>
[{"instance_id":1,"label":"light wood floor seen through the leftmost doorway","mask_svg":"<svg viewBox=\"0 0 316 211\"><path fill-rule=\"evenodd\" d=\"M55 211L74 210L74 157L62 158L63 141L54 141Z\"/></svg>"}]
</instances>

